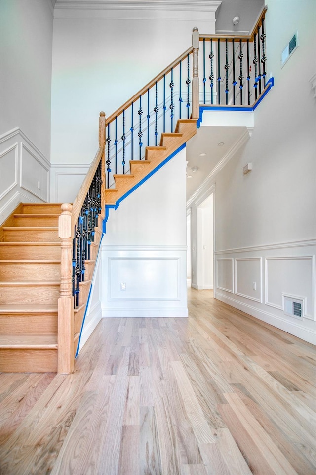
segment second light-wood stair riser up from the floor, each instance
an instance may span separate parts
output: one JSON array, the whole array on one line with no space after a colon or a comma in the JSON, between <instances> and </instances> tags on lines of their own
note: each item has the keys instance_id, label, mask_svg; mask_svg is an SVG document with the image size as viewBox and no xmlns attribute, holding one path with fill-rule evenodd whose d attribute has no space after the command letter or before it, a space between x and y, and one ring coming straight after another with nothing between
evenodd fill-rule
<instances>
[{"instance_id":1,"label":"second light-wood stair riser up from the floor","mask_svg":"<svg viewBox=\"0 0 316 475\"><path fill-rule=\"evenodd\" d=\"M56 335L57 312L51 314L4 314L0 317L2 335Z\"/></svg>"}]
</instances>

